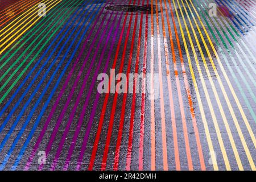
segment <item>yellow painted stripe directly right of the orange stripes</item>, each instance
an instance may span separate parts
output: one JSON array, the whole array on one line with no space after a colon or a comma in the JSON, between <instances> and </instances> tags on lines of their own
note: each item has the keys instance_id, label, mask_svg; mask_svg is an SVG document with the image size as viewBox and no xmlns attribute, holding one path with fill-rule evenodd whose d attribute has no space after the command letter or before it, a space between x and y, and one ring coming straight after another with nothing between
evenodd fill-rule
<instances>
[{"instance_id":1,"label":"yellow painted stripe directly right of the orange stripes","mask_svg":"<svg viewBox=\"0 0 256 182\"><path fill-rule=\"evenodd\" d=\"M171 7L171 2L170 2L170 0L168 0L168 1L169 1L169 5L170 5L170 7ZM181 31L181 36L182 36L182 39L183 39L184 47L185 47L185 52L186 52L186 54L187 54L188 64L189 64L189 70L190 70L190 72L191 72L192 81L193 81L193 84L194 84L194 86L195 86L196 97L197 97L197 100L198 100L199 109L200 109L200 113L201 113L203 125L204 125L204 128L205 128L205 134L206 134L206 136L207 136L207 142L208 142L209 150L210 150L210 151L214 151L213 144L212 144L212 140L211 140L211 138L210 138L210 133L209 133L209 127L208 127L207 119L206 119L205 113L204 113L204 107L203 107L203 104L202 104L202 101L201 101L199 89L198 89L197 82L196 82L195 73L194 73L194 71L193 71L193 67L192 67L192 63L191 63L191 57L190 57L189 51L188 51L187 42L186 42L186 40L185 40L185 35L184 35L184 32L183 32L183 28L182 28L182 26L181 26L179 14L177 13L177 8L176 8L176 5L175 5L174 0L172 0L172 2L174 3L175 13L176 13L176 16L177 16L177 20L178 20L178 22L179 22L179 27L180 27L180 31ZM186 27L186 28L187 28L187 27ZM191 38L190 38L190 39L191 39ZM195 53L195 49L193 49L193 52ZM196 54L194 54L194 56L196 57ZM211 155L210 157L211 157L212 162L213 162L213 169L214 169L215 171L217 171L217 170L218 170L218 164L217 164L216 156Z\"/></svg>"}]
</instances>

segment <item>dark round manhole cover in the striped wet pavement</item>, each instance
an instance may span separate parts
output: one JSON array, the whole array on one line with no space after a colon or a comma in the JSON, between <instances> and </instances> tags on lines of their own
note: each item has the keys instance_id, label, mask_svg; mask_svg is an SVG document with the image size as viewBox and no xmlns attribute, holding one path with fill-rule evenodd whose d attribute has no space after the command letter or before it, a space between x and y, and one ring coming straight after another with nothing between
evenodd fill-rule
<instances>
[{"instance_id":1,"label":"dark round manhole cover in the striped wet pavement","mask_svg":"<svg viewBox=\"0 0 256 182\"><path fill-rule=\"evenodd\" d=\"M151 6L135 6L135 5L113 5L105 7L106 10L110 11L122 11L126 13L151 13ZM153 5L153 12L155 13L155 5Z\"/></svg>"}]
</instances>

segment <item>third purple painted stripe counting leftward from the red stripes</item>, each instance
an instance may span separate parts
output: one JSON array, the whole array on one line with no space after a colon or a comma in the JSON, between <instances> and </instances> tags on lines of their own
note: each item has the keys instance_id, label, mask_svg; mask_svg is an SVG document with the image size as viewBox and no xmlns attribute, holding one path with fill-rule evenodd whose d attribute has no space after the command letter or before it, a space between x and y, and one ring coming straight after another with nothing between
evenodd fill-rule
<instances>
[{"instance_id":1,"label":"third purple painted stripe counting leftward from the red stripes","mask_svg":"<svg viewBox=\"0 0 256 182\"><path fill-rule=\"evenodd\" d=\"M86 82L88 81L90 72L92 71L92 67L93 67L94 62L95 62L95 60L96 60L97 53L98 53L98 51L99 51L99 49L100 49L101 43L102 43L102 41L103 41L103 39L104 39L104 36L106 35L106 31L107 31L107 29L108 29L108 27L109 27L109 23L110 23L110 20L111 20L111 18L112 18L112 15L113 15L113 12L111 13L111 15L110 15L110 17L109 17L109 19L108 19L108 23L106 24L104 33L101 35L100 42L98 43L98 46L97 46L97 48L96 48L96 51L94 52L93 60L92 60L92 62L90 63L90 67L89 67L89 69L88 69L88 71L87 71L87 73L86 73L86 76L85 76L85 79L84 79L84 83L83 83L82 88L81 88L81 90L80 90L81 92L79 93L79 96L77 97L77 100L76 100L76 104L75 104L75 106L74 106L73 109L72 109L72 113L71 113L71 115L70 115L70 117L69 117L68 124L67 124L67 126L66 126L66 128L65 128L63 137L61 138L61 142L60 142L59 147L58 147L58 150L57 150L57 152L56 152L55 159L53 160L53 163L52 163L52 166L51 166L51 170L55 169L55 167L56 167L56 163L57 163L57 161L58 161L58 159L59 159L61 150L62 150L63 145L64 145L64 143L65 143L65 138L67 137L68 132L69 132L69 129L70 129L71 124L72 124L72 122L73 122L73 116L75 115L76 110L77 110L77 106L79 105L79 102L81 101L82 92L84 92L84 88L85 88ZM107 38L107 40L106 40L106 42L105 42L105 45L106 45L106 46L108 45L108 41L109 41L109 38L110 38L110 36L111 36L112 30L113 30L113 28L114 28L114 24L115 24L115 20L116 20L116 19L117 19L117 14L116 14L115 17L114 17L113 23L112 23L112 25L111 25L111 28L110 28L110 31L109 31L109 34L108 34L108 38ZM95 38L96 38L96 37L95 37ZM102 50L102 55L104 55L104 53L105 53L106 46L105 46L104 49ZM88 53L88 55L90 55L90 52ZM87 59L84 60L84 63L87 62L89 56L86 57L86 58L87 58ZM100 67L100 65L101 65L101 61L99 61L98 67ZM84 68L85 68L85 67L82 67L80 73L82 73L82 71L83 71ZM94 73L94 75L95 75L95 74L96 74L96 73ZM72 88L73 93L75 92L76 86L77 86L77 84L78 84L78 82L79 82L79 80L80 80L80 76L81 76L81 74L79 74L79 75L77 76L77 80L76 80L77 82L73 85L73 87L75 87L74 89ZM72 95L71 95L71 98L72 98L72 96L73 96L73 93L72 93ZM70 99L70 100L71 100L71 99ZM62 119L63 119L63 118L61 118L61 120L62 120ZM77 123L77 125L79 126L79 125L81 125L81 123ZM78 127L78 126L77 126L77 127ZM75 135L76 135L76 133L75 133Z\"/></svg>"}]
</instances>

